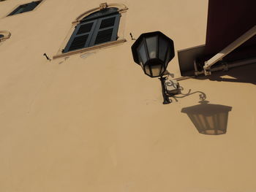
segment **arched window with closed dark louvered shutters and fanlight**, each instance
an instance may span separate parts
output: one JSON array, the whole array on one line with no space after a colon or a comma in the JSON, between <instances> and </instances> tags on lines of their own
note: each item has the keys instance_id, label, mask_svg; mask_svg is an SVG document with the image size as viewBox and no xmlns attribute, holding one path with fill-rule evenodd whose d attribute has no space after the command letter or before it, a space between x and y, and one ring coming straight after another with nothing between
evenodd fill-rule
<instances>
[{"instance_id":1,"label":"arched window with closed dark louvered shutters and fanlight","mask_svg":"<svg viewBox=\"0 0 256 192\"><path fill-rule=\"evenodd\" d=\"M116 41L120 13L115 7L93 12L80 20L62 53Z\"/></svg>"}]
</instances>

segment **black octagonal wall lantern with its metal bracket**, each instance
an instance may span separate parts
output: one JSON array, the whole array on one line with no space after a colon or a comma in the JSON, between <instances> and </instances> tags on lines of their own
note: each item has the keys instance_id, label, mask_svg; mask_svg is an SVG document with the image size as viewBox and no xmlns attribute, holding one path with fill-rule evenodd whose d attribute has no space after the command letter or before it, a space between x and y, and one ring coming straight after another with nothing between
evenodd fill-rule
<instances>
[{"instance_id":1,"label":"black octagonal wall lantern with its metal bracket","mask_svg":"<svg viewBox=\"0 0 256 192\"><path fill-rule=\"evenodd\" d=\"M160 77L163 104L170 104L169 96L178 93L178 83L163 77L167 65L174 55L173 40L160 31L141 34L132 45L132 56L135 63L139 64L149 77Z\"/></svg>"}]
</instances>

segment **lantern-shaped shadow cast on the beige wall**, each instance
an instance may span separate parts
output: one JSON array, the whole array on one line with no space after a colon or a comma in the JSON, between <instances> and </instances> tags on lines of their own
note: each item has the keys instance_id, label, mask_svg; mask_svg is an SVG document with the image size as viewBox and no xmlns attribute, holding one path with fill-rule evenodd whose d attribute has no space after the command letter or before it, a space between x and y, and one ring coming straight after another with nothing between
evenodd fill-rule
<instances>
[{"instance_id":1,"label":"lantern-shaped shadow cast on the beige wall","mask_svg":"<svg viewBox=\"0 0 256 192\"><path fill-rule=\"evenodd\" d=\"M226 134L228 112L232 107L221 104L208 104L208 101L199 101L192 107L184 107L181 112L186 113L200 134Z\"/></svg>"}]
</instances>

